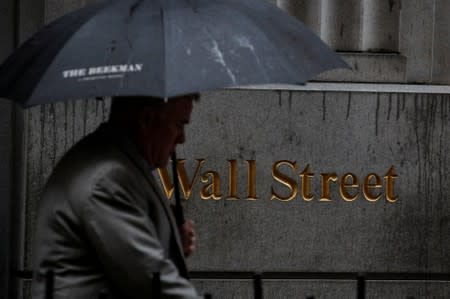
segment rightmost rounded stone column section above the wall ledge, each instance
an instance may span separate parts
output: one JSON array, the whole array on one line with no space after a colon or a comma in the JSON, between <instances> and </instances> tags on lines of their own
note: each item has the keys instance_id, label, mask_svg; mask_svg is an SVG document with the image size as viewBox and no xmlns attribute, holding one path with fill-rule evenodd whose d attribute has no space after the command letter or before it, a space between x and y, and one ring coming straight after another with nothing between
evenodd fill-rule
<instances>
[{"instance_id":1,"label":"rightmost rounded stone column section above the wall ledge","mask_svg":"<svg viewBox=\"0 0 450 299\"><path fill-rule=\"evenodd\" d=\"M362 50L398 52L400 0L363 0Z\"/></svg>"}]
</instances>

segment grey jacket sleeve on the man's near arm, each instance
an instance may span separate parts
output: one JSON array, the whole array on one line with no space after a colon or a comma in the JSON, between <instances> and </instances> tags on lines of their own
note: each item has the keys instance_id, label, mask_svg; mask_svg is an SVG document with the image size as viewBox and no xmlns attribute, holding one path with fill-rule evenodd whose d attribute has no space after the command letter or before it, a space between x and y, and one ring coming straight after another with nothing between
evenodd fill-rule
<instances>
[{"instance_id":1,"label":"grey jacket sleeve on the man's near arm","mask_svg":"<svg viewBox=\"0 0 450 299\"><path fill-rule=\"evenodd\" d=\"M126 298L151 298L153 273L159 272L162 298L200 298L166 257L154 223L136 199L138 186L117 176L101 176L82 208L85 232L111 283Z\"/></svg>"}]
</instances>

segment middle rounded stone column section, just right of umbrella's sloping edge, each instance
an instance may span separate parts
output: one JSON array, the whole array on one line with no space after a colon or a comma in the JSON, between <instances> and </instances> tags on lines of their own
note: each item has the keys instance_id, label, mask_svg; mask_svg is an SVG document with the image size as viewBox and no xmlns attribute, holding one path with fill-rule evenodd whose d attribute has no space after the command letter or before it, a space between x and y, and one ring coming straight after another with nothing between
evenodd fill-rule
<instances>
[{"instance_id":1,"label":"middle rounded stone column section, just right of umbrella's sloping edge","mask_svg":"<svg viewBox=\"0 0 450 299\"><path fill-rule=\"evenodd\" d=\"M361 0L322 2L322 39L338 51L361 50Z\"/></svg>"}]
</instances>

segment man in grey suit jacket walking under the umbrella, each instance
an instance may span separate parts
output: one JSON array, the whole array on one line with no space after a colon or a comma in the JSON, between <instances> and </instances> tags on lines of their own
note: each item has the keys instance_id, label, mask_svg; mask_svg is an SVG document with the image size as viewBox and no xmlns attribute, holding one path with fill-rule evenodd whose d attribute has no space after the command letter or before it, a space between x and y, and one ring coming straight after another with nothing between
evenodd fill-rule
<instances>
[{"instance_id":1,"label":"man in grey suit jacket walking under the umbrella","mask_svg":"<svg viewBox=\"0 0 450 299\"><path fill-rule=\"evenodd\" d=\"M116 98L109 122L61 159L40 202L33 298L44 298L48 270L55 299L152 298L156 272L162 298L199 298L184 260L192 222L180 237L151 173L184 142L195 97Z\"/></svg>"}]
</instances>

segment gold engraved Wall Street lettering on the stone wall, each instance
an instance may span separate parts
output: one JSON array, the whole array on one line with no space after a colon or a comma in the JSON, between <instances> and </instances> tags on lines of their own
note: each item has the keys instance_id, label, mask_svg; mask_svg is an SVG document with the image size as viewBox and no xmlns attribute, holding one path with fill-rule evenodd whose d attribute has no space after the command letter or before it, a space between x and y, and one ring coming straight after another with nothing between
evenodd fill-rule
<instances>
[{"instance_id":1,"label":"gold engraved Wall Street lettering on the stone wall","mask_svg":"<svg viewBox=\"0 0 450 299\"><path fill-rule=\"evenodd\" d=\"M394 166L391 166L384 174L368 172L367 175L357 176L354 173L346 172L342 175L336 172L314 173L312 166L307 164L303 170L295 161L280 160L272 165L271 174L274 183L266 190L256 188L256 167L255 160L246 160L245 166L239 169L237 160L227 160L227 173L207 168L205 159L196 159L195 170L192 177L189 177L185 168L185 159L177 161L178 181L185 199L190 199L193 188L200 184L198 197L203 200L258 200L258 194L270 194L271 200L288 202L295 199L304 201L332 201L330 189L339 190L340 199L352 202L358 198L364 198L369 202L376 202L385 199L388 202L396 202L399 196L395 193L394 185L399 175ZM242 162L239 164L243 164ZM239 182L238 171L247 173L246 182ZM166 197L171 198L173 194L173 182L167 169L158 169L158 174ZM226 181L225 181L226 179ZM238 184L245 184L247 192L238 194ZM312 184L319 185L320 193L313 194ZM277 191L284 187L288 189L288 195L280 195ZM300 191L300 192L299 192ZM266 198L267 196L264 196Z\"/></svg>"}]
</instances>

